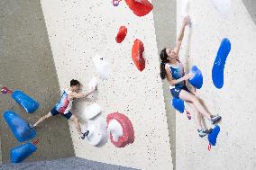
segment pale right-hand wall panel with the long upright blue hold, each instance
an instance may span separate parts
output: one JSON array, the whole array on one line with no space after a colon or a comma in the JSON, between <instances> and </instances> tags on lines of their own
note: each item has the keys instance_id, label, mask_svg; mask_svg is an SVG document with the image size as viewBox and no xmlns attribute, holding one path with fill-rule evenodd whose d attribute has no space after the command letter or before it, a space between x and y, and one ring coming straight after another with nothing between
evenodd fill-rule
<instances>
[{"instance_id":1,"label":"pale right-hand wall panel with the long upright blue hold","mask_svg":"<svg viewBox=\"0 0 256 170\"><path fill-rule=\"evenodd\" d=\"M178 22L182 4L178 1ZM188 121L185 115L177 116L177 169L255 169L256 26L241 0L232 1L231 14L225 17L209 0L191 0L190 15L193 23L186 32L180 58L187 67L197 65L202 70L204 85L197 91L198 97L223 120L217 144L209 152L207 139L197 135L194 117ZM224 68L224 87L219 90L211 74L225 37L231 40L232 49Z\"/></svg>"}]
</instances>

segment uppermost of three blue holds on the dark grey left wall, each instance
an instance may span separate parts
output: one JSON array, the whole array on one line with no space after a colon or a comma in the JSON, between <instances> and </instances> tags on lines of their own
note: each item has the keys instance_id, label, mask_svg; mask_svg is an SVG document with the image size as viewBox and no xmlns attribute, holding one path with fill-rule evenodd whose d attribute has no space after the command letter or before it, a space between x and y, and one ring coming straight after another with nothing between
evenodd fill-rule
<instances>
[{"instance_id":1,"label":"uppermost of three blue holds on the dark grey left wall","mask_svg":"<svg viewBox=\"0 0 256 170\"><path fill-rule=\"evenodd\" d=\"M14 100L21 104L26 112L32 113L35 112L39 108L39 103L33 100L27 94L24 94L20 90L15 90L12 94Z\"/></svg>"}]
</instances>

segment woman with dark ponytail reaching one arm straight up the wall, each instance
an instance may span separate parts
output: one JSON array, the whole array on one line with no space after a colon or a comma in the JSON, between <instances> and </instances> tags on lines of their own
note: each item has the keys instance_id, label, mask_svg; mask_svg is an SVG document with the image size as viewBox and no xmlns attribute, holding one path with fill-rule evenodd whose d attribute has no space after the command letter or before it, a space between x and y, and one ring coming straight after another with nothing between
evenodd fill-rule
<instances>
[{"instance_id":1,"label":"woman with dark ponytail reaching one arm straight up the wall","mask_svg":"<svg viewBox=\"0 0 256 170\"><path fill-rule=\"evenodd\" d=\"M160 77L161 79L167 78L169 82L169 90L173 97L182 99L195 110L197 113L197 131L199 136L203 138L209 133L209 130L203 129L202 115L204 115L213 124L220 121L221 116L211 115L207 112L206 108L199 102L195 94L192 94L187 89L186 81L194 75L184 73L184 67L178 60L178 52L184 37L185 28L189 22L189 16L184 18L175 48L165 48L160 51Z\"/></svg>"}]
</instances>

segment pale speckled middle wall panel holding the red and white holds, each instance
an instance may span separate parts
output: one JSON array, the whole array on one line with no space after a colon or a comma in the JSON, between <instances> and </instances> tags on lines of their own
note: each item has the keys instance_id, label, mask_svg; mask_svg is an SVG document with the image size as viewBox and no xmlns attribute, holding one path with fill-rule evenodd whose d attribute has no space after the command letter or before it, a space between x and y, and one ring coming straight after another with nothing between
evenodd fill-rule
<instances>
[{"instance_id":1,"label":"pale speckled middle wall panel holding the red and white holds","mask_svg":"<svg viewBox=\"0 0 256 170\"><path fill-rule=\"evenodd\" d=\"M98 103L105 120L108 113L122 112L133 122L135 141L126 148L108 143L95 148L78 139L69 123L77 157L141 169L172 169L169 131L160 80L159 56L153 15L139 18L124 1L114 7L112 1L41 0L60 88L77 78L87 91L87 83L96 76L92 58L98 54L111 65L113 74L100 81L97 97L75 103L75 114L83 104ZM121 25L128 33L121 44L114 40ZM140 72L133 64L133 40L144 43L146 68Z\"/></svg>"}]
</instances>

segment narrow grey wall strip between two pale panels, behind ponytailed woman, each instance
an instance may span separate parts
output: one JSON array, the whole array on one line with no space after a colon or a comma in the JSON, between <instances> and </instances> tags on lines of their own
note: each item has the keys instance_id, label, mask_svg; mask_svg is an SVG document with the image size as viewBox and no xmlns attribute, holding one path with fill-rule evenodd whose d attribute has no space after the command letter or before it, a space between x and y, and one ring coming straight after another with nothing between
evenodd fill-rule
<instances>
[{"instance_id":1,"label":"narrow grey wall strip between two pale panels, behind ponytailed woman","mask_svg":"<svg viewBox=\"0 0 256 170\"><path fill-rule=\"evenodd\" d=\"M165 47L174 47L176 41L176 0L152 1L158 54ZM165 29L163 29L165 28ZM160 57L159 57L160 58ZM171 94L167 80L162 81L166 116L169 129L169 143L173 169L176 169L176 111L169 103Z\"/></svg>"}]
</instances>

